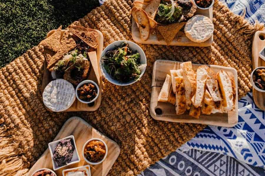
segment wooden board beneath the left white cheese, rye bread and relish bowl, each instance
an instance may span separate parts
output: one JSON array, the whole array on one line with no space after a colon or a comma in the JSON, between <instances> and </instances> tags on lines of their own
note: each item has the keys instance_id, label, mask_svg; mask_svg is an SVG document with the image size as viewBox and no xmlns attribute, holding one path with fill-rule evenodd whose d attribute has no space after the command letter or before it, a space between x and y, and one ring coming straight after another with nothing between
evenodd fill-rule
<instances>
[{"instance_id":1,"label":"wooden board beneath the left white cheese, rye bread and relish bowl","mask_svg":"<svg viewBox=\"0 0 265 176\"><path fill-rule=\"evenodd\" d=\"M52 30L47 34L47 37L49 37L50 35L52 35L52 33L56 31L56 30ZM64 33L64 31L66 30L62 30L62 34ZM91 62L91 67L90 67L90 74L87 77L87 79L94 81L95 83L97 83L97 85L99 86L99 95L98 98L96 99L96 101L94 102L93 106L88 106L88 104L82 103L80 101L78 101L78 99L76 98L74 103L72 104L72 106L65 110L64 112L69 112L69 111L96 111L101 104L101 96L102 96L102 73L100 71L100 65L99 65L99 61L100 61L100 57L101 57L101 53L103 50L103 34L96 30L98 32L98 37L97 37L97 41L98 41L98 47L97 47L97 63L93 63ZM61 34L61 36L62 36ZM98 68L97 70L93 69L94 65L97 65L96 67ZM97 74L96 74L97 72ZM96 75L98 75L99 77L97 77ZM43 74L43 79L42 79L42 93L45 89L45 87L47 86L47 84L49 84L49 82L52 81L52 76L51 76L51 72L47 69L47 62L46 60L44 61L44 74ZM74 86L75 87L75 86ZM46 109L48 109L46 107ZM50 109L48 109L49 111L51 111Z\"/></svg>"}]
</instances>

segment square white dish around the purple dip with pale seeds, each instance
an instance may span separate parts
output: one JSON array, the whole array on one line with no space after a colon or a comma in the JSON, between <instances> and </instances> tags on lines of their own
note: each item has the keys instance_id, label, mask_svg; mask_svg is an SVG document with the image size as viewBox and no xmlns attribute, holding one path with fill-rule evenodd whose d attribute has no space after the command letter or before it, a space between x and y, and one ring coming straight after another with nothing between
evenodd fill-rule
<instances>
[{"instance_id":1,"label":"square white dish around the purple dip with pale seeds","mask_svg":"<svg viewBox=\"0 0 265 176\"><path fill-rule=\"evenodd\" d=\"M58 164L52 159L53 170L58 170L58 169L61 169L62 167L65 167L65 166L68 166L68 165L71 165L71 164L74 164L74 163L78 163L80 161L80 157L79 157L78 152L77 152L77 147L76 147L73 135L67 136L67 137L59 139L57 141L50 142L48 144L48 146L49 146L49 150L50 150L50 153L51 153L51 157L53 156L54 149L55 149L56 145L59 143L59 141L61 141L63 139L67 139L67 138L71 138L73 140L73 142L74 142L74 153L73 153L72 160L71 160L70 163L67 163L67 165L58 166Z\"/></svg>"}]
</instances>

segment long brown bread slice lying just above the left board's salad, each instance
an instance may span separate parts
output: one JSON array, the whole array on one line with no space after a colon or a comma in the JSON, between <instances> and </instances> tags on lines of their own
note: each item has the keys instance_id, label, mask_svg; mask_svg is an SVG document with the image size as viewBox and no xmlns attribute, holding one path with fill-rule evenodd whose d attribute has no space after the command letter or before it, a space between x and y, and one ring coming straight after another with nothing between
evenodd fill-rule
<instances>
[{"instance_id":1,"label":"long brown bread slice lying just above the left board's salad","mask_svg":"<svg viewBox=\"0 0 265 176\"><path fill-rule=\"evenodd\" d=\"M68 31L65 31L59 44L59 50L47 61L47 69L52 71L55 64L62 59L63 55L76 47L76 43Z\"/></svg>"}]
</instances>

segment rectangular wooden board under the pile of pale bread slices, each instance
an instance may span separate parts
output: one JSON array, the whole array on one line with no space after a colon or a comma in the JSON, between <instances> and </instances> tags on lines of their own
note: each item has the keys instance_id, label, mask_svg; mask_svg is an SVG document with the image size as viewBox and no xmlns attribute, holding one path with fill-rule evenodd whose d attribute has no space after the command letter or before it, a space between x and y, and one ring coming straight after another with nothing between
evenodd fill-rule
<instances>
[{"instance_id":1,"label":"rectangular wooden board under the pile of pale bread slices","mask_svg":"<svg viewBox=\"0 0 265 176\"><path fill-rule=\"evenodd\" d=\"M177 70L180 68L182 62L170 61L170 60L156 60L153 66L152 77L152 93L150 102L150 115L156 120L182 122L182 123L201 123L206 125L225 126L232 127L238 122L238 92L236 91L236 104L235 110L228 113L215 113L211 115L201 114L199 119L195 119L189 116L188 111L184 114L177 115L175 111L175 105L168 102L158 102L158 95L161 87L165 81L167 74L170 75L169 70ZM197 70L200 64L192 64L193 69ZM237 90L237 71L231 67L222 67L218 65L208 65L215 73L220 70L226 71L229 75L233 75L236 90ZM162 110L162 114L156 114L155 110L159 108Z\"/></svg>"}]
</instances>

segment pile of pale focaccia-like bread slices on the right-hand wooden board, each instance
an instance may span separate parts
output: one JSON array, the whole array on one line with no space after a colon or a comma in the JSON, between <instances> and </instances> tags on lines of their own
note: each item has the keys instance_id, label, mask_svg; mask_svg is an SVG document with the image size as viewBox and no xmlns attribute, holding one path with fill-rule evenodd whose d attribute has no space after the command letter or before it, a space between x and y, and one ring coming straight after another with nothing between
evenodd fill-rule
<instances>
[{"instance_id":1,"label":"pile of pale focaccia-like bread slices on the right-hand wooden board","mask_svg":"<svg viewBox=\"0 0 265 176\"><path fill-rule=\"evenodd\" d=\"M197 119L200 114L233 111L235 100L235 83L230 73L220 70L216 74L207 65L194 71L191 62L183 62L179 70L170 70L158 96L158 101L174 104L176 114L188 111Z\"/></svg>"}]
</instances>

